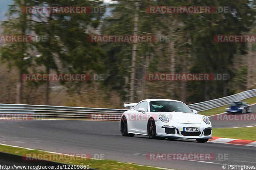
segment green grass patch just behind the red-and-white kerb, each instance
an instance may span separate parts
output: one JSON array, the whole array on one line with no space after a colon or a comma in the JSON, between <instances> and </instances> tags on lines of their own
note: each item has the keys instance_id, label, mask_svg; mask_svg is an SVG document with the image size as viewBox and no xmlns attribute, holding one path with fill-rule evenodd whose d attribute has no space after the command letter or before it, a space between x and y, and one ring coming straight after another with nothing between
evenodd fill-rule
<instances>
[{"instance_id":1,"label":"green grass patch just behind the red-and-white kerb","mask_svg":"<svg viewBox=\"0 0 256 170\"><path fill-rule=\"evenodd\" d=\"M250 128L222 128L222 129L213 128L212 136L256 141L255 131L256 131L256 127L250 127Z\"/></svg>"}]
</instances>

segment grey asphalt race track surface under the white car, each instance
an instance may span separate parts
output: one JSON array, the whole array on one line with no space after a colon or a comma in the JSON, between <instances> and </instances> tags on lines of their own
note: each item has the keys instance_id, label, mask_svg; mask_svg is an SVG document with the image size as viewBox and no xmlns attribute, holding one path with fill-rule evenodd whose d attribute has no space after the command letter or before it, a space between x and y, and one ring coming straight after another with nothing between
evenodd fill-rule
<instances>
[{"instance_id":1,"label":"grey asphalt race track surface under the white car","mask_svg":"<svg viewBox=\"0 0 256 170\"><path fill-rule=\"evenodd\" d=\"M188 139L157 140L141 135L123 137L119 131L119 122L1 121L0 143L60 153L89 153L92 157L94 154L104 154L104 159L170 169L223 169L224 164L226 169L228 165L256 166L256 147L197 143ZM148 153L210 153L212 158L149 160L146 157ZM226 159L218 159L218 155L225 155Z\"/></svg>"}]
</instances>

